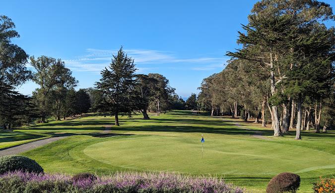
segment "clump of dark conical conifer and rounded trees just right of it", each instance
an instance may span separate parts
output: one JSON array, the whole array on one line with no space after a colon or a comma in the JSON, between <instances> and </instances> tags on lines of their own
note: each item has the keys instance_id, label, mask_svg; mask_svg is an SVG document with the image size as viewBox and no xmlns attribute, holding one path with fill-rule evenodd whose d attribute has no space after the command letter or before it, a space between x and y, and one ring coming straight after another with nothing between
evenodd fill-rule
<instances>
[{"instance_id":1,"label":"clump of dark conical conifer and rounded trees just right of it","mask_svg":"<svg viewBox=\"0 0 335 193\"><path fill-rule=\"evenodd\" d=\"M149 119L148 111L159 116L171 109L185 109L185 101L175 94L166 77L135 72L134 59L120 48L89 91L92 111L115 116L115 125L119 126L119 115L140 112L143 119Z\"/></svg>"}]
</instances>

